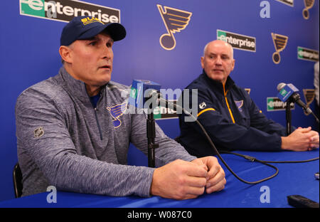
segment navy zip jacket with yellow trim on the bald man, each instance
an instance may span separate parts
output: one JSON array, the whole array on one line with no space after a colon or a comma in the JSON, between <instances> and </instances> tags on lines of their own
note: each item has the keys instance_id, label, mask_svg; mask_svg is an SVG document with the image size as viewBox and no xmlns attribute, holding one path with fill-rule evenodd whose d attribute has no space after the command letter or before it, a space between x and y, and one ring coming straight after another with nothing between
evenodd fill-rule
<instances>
[{"instance_id":1,"label":"navy zip jacket with yellow trim on the bald man","mask_svg":"<svg viewBox=\"0 0 320 222\"><path fill-rule=\"evenodd\" d=\"M223 85L208 78L203 70L187 89L198 89L198 121L218 150L281 149L281 137L286 135L286 129L268 120L249 94L230 77ZM191 93L189 101L192 101ZM179 115L179 125L180 142L190 154L197 157L215 154L196 122L185 122L183 114Z\"/></svg>"}]
</instances>

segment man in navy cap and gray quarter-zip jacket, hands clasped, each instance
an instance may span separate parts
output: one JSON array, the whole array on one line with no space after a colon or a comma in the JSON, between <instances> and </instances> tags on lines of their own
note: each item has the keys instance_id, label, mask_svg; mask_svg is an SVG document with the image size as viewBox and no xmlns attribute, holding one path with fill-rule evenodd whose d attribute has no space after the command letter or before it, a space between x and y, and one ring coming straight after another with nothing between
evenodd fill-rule
<instances>
[{"instance_id":1,"label":"man in navy cap and gray quarter-zip jacket, hands clasped","mask_svg":"<svg viewBox=\"0 0 320 222\"><path fill-rule=\"evenodd\" d=\"M125 113L128 87L111 81L119 23L73 18L62 31L58 75L31 86L16 102L23 196L58 190L110 196L191 199L220 191L215 157L196 159L156 125L156 166L128 166L129 144L147 154L146 115Z\"/></svg>"}]
</instances>

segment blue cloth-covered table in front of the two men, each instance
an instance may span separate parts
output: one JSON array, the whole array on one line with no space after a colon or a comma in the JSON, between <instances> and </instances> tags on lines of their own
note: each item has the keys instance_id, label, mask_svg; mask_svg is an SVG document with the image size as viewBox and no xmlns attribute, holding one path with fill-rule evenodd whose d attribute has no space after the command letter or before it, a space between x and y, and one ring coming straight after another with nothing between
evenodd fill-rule
<instances>
[{"instance_id":1,"label":"blue cloth-covered table in front of the two men","mask_svg":"<svg viewBox=\"0 0 320 222\"><path fill-rule=\"evenodd\" d=\"M297 161L319 157L319 149L310 152L238 152L268 161ZM222 154L225 162L242 179L257 181L271 176L275 170L259 162L232 154ZM220 162L220 160L219 160ZM58 191L57 203L48 203L49 192L25 196L18 199L0 202L0 208L6 207L40 207L40 208L287 208L287 196L299 194L319 203L319 180L314 174L319 171L319 159L306 163L272 164L277 166L279 174L260 184L245 184L226 169L227 184L223 191L213 194L203 194L197 199L176 201L159 196L141 198L139 196L100 196L93 194L78 194ZM269 189L270 199L266 202L266 188ZM260 190L261 189L261 190ZM261 199L260 199L261 197ZM265 201L264 201L265 200Z\"/></svg>"}]
</instances>

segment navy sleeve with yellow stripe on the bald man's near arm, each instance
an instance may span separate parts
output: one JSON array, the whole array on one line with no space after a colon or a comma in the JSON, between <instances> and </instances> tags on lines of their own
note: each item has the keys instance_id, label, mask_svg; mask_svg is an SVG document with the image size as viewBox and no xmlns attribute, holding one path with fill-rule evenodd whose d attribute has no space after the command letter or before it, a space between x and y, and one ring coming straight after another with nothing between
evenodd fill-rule
<instances>
[{"instance_id":1,"label":"navy sleeve with yellow stripe on the bald man's near arm","mask_svg":"<svg viewBox=\"0 0 320 222\"><path fill-rule=\"evenodd\" d=\"M191 101L191 98L189 100ZM278 134L269 134L253 126L245 127L233 124L220 114L218 105L214 101L217 99L213 100L206 89L198 89L198 105L205 102L206 107L203 110L198 110L197 119L216 146L227 150L280 150L281 137ZM186 122L186 125L203 134L196 122ZM203 138L205 139L204 134Z\"/></svg>"}]
</instances>

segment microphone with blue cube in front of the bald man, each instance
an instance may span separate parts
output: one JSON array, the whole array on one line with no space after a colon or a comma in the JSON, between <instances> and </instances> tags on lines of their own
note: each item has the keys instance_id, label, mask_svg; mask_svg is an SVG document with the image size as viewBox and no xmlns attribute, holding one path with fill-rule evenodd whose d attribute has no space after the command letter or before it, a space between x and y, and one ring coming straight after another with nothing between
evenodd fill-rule
<instances>
[{"instance_id":1,"label":"microphone with blue cube in front of the bald man","mask_svg":"<svg viewBox=\"0 0 320 222\"><path fill-rule=\"evenodd\" d=\"M277 85L277 90L279 91L277 96L282 100L282 102L295 102L297 105L302 107L306 113L312 113L312 110L307 107L302 100L300 100L300 95L297 93L299 90L291 83L279 83Z\"/></svg>"}]
</instances>

